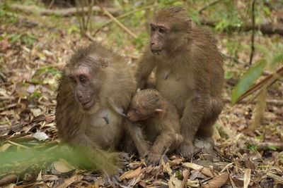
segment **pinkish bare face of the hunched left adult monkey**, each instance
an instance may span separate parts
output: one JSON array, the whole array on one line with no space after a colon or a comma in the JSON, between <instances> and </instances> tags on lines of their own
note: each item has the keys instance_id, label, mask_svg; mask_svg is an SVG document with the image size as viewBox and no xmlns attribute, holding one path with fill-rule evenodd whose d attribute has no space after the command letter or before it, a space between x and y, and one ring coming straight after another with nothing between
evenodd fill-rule
<instances>
[{"instance_id":1,"label":"pinkish bare face of the hunched left adult monkey","mask_svg":"<svg viewBox=\"0 0 283 188\"><path fill-rule=\"evenodd\" d=\"M88 66L79 65L67 74L74 87L76 101L83 111L91 111L98 100L98 73L93 74L91 72L91 68L88 68Z\"/></svg>"}]
</instances>

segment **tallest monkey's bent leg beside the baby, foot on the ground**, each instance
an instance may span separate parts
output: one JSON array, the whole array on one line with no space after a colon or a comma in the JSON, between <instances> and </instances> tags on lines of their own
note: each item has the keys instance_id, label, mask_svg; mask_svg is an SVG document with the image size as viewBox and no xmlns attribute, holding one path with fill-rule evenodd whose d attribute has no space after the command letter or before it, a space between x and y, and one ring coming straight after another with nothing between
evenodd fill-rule
<instances>
[{"instance_id":1,"label":"tallest monkey's bent leg beside the baby, foot on the ground","mask_svg":"<svg viewBox=\"0 0 283 188\"><path fill-rule=\"evenodd\" d=\"M202 123L204 117L204 105L207 102L205 96L194 96L187 99L183 116L180 118L181 133L183 134L183 143L180 145L179 152L184 157L189 158L194 152L193 141L195 134Z\"/></svg>"}]
</instances>

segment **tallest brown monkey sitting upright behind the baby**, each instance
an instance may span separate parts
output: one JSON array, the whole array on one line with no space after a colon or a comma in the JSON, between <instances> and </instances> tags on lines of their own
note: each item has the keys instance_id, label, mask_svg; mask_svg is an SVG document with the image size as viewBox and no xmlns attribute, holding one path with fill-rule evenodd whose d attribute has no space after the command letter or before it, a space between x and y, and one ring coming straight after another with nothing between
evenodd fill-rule
<instances>
[{"instance_id":1,"label":"tallest brown monkey sitting upright behind the baby","mask_svg":"<svg viewBox=\"0 0 283 188\"><path fill-rule=\"evenodd\" d=\"M156 89L173 101L180 115L184 142L180 153L190 157L195 136L212 141L212 125L222 109L222 58L209 32L192 23L184 8L156 11L150 45L137 65L140 88L156 68Z\"/></svg>"}]
</instances>

